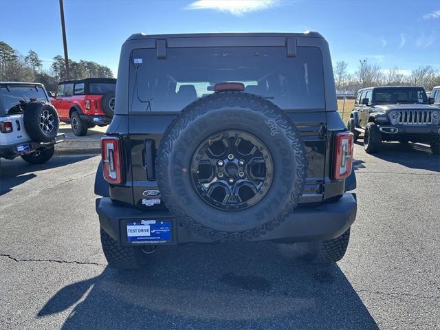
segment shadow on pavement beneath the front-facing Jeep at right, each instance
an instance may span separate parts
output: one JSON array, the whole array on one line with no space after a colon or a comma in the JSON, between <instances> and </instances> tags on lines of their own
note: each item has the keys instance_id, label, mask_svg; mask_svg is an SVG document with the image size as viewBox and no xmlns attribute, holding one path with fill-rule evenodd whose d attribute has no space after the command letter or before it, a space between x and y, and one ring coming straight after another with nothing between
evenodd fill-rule
<instances>
[{"instance_id":1,"label":"shadow on pavement beneath the front-facing Jeep at right","mask_svg":"<svg viewBox=\"0 0 440 330\"><path fill-rule=\"evenodd\" d=\"M362 142L355 143L363 146ZM371 156L408 168L440 172L440 156L433 155L430 147L423 144L383 142L379 152Z\"/></svg>"}]
</instances>

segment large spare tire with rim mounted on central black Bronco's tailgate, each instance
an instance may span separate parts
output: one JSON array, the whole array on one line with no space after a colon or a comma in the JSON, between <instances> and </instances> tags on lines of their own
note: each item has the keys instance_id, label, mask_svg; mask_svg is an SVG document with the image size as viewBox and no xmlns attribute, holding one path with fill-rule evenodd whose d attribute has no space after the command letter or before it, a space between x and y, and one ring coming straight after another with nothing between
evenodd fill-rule
<instances>
[{"instance_id":1,"label":"large spare tire with rim mounted on central black Bronco's tailgate","mask_svg":"<svg viewBox=\"0 0 440 330\"><path fill-rule=\"evenodd\" d=\"M252 240L296 208L307 153L275 104L221 91L192 102L168 126L156 172L181 225L216 240Z\"/></svg>"}]
</instances>

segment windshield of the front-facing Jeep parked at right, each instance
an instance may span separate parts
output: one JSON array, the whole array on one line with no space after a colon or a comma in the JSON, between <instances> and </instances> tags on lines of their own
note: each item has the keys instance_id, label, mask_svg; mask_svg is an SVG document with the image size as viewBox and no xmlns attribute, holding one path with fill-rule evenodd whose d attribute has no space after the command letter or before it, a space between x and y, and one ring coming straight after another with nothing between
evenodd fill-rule
<instances>
[{"instance_id":1,"label":"windshield of the front-facing Jeep parked at right","mask_svg":"<svg viewBox=\"0 0 440 330\"><path fill-rule=\"evenodd\" d=\"M422 88L381 88L373 93L376 104L428 103L426 92Z\"/></svg>"}]
</instances>

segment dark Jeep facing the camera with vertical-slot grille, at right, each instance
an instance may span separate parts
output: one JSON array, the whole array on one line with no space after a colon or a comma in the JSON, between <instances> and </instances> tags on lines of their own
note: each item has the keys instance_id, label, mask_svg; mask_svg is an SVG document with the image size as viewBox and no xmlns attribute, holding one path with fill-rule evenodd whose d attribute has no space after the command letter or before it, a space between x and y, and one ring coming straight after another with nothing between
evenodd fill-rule
<instances>
[{"instance_id":1,"label":"dark Jeep facing the camera with vertical-slot grille, at right","mask_svg":"<svg viewBox=\"0 0 440 330\"><path fill-rule=\"evenodd\" d=\"M382 141L423 142L440 154L440 110L423 87L369 87L360 89L347 126L364 149L375 153Z\"/></svg>"}]
</instances>

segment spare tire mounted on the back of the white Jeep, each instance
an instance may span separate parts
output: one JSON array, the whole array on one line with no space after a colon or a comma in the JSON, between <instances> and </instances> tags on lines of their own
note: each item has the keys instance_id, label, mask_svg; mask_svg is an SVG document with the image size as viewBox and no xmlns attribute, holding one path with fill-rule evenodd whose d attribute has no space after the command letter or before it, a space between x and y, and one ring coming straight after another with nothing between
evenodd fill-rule
<instances>
[{"instance_id":1,"label":"spare tire mounted on the back of the white Jeep","mask_svg":"<svg viewBox=\"0 0 440 330\"><path fill-rule=\"evenodd\" d=\"M49 102L33 101L25 105L23 122L26 133L35 142L51 142L58 134L58 113Z\"/></svg>"}]
</instances>

